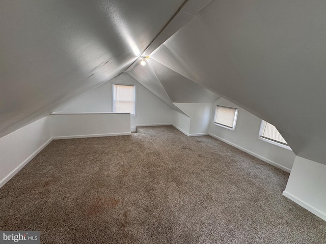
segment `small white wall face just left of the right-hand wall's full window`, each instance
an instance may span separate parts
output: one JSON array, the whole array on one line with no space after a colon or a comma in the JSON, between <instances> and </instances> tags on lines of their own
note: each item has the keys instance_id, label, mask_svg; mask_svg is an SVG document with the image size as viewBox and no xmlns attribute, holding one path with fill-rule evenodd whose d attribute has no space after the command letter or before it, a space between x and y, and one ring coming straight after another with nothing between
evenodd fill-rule
<instances>
[{"instance_id":1,"label":"small white wall face just left of the right-hand wall's full window","mask_svg":"<svg viewBox=\"0 0 326 244\"><path fill-rule=\"evenodd\" d=\"M173 103L190 117L189 135L208 134L211 103ZM186 116L184 116L186 117Z\"/></svg>"}]
</instances>

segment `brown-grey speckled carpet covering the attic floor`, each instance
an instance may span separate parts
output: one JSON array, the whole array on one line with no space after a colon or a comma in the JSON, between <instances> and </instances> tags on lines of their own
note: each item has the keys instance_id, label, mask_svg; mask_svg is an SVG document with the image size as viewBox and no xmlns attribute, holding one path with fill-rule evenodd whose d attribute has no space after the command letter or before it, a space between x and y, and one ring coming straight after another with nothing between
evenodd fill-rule
<instances>
[{"instance_id":1,"label":"brown-grey speckled carpet covering the attic floor","mask_svg":"<svg viewBox=\"0 0 326 244\"><path fill-rule=\"evenodd\" d=\"M171 126L52 141L0 189L0 230L41 243L326 243L288 173Z\"/></svg>"}]
</instances>

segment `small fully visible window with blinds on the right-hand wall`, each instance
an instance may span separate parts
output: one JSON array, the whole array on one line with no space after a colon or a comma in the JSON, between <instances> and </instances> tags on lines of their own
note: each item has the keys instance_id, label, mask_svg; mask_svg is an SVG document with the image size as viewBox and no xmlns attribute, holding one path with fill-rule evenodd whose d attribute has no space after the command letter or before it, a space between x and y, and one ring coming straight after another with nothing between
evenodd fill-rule
<instances>
[{"instance_id":1,"label":"small fully visible window with blinds on the right-hand wall","mask_svg":"<svg viewBox=\"0 0 326 244\"><path fill-rule=\"evenodd\" d=\"M234 130L238 109L216 106L214 124Z\"/></svg>"}]
</instances>

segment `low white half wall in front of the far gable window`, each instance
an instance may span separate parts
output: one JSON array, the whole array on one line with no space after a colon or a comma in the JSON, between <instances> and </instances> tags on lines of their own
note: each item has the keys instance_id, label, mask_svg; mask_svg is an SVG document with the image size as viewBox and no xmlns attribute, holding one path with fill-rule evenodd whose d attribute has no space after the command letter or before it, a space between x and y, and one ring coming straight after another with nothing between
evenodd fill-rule
<instances>
[{"instance_id":1,"label":"low white half wall in front of the far gable window","mask_svg":"<svg viewBox=\"0 0 326 244\"><path fill-rule=\"evenodd\" d=\"M51 114L53 139L130 135L129 113Z\"/></svg>"}]
</instances>

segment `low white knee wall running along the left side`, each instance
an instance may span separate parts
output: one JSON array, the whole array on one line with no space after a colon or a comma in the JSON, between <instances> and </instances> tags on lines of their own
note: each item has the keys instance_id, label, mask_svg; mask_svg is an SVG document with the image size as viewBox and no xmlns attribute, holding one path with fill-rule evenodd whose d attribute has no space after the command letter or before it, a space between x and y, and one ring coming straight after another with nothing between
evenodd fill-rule
<instances>
[{"instance_id":1,"label":"low white knee wall running along the left side","mask_svg":"<svg viewBox=\"0 0 326 244\"><path fill-rule=\"evenodd\" d=\"M33 159L49 142L48 117L0 138L0 187Z\"/></svg>"}]
</instances>

